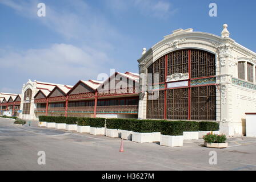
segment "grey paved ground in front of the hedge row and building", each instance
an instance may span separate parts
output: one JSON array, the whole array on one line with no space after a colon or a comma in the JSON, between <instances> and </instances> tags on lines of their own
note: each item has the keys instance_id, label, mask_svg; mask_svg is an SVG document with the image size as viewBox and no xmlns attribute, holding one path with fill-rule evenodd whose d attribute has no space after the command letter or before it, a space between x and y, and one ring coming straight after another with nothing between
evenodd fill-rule
<instances>
[{"instance_id":1,"label":"grey paved ground in front of the hedge row and building","mask_svg":"<svg viewBox=\"0 0 256 182\"><path fill-rule=\"evenodd\" d=\"M256 170L256 138L229 139L229 148L203 147L203 140L185 141L183 147L79 134L65 130L15 126L0 119L0 170ZM46 165L38 165L45 151ZM209 152L217 152L217 165Z\"/></svg>"}]
</instances>

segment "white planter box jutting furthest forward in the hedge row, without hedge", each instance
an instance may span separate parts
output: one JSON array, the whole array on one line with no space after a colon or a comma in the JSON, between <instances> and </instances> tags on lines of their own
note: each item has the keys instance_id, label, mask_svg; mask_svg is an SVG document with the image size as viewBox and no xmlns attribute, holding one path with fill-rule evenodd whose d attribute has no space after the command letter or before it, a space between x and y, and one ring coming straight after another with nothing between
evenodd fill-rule
<instances>
[{"instance_id":1,"label":"white planter box jutting furthest forward in the hedge row, without hedge","mask_svg":"<svg viewBox=\"0 0 256 182\"><path fill-rule=\"evenodd\" d=\"M168 147L181 147L183 146L183 136L161 135L160 145Z\"/></svg>"}]
</instances>

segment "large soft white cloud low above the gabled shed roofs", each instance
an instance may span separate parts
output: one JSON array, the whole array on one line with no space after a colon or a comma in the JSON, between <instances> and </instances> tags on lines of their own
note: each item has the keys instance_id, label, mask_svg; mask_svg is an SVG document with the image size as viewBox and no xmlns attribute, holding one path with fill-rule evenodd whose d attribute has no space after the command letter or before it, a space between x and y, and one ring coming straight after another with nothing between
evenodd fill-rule
<instances>
[{"instance_id":1,"label":"large soft white cloud low above the gabled shed roofs","mask_svg":"<svg viewBox=\"0 0 256 182\"><path fill-rule=\"evenodd\" d=\"M0 56L0 62L2 67L17 70L17 75L27 75L29 72L37 77L62 80L96 77L104 70L99 65L111 63L104 52L70 44L53 44L47 49L6 51Z\"/></svg>"}]
</instances>

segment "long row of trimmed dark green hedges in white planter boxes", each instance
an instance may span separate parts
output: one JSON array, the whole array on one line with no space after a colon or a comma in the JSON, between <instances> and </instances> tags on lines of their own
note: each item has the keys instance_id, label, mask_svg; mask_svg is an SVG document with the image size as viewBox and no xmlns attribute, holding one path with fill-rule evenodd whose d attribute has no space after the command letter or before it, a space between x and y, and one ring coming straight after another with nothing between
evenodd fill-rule
<instances>
[{"instance_id":1,"label":"long row of trimmed dark green hedges in white planter boxes","mask_svg":"<svg viewBox=\"0 0 256 182\"><path fill-rule=\"evenodd\" d=\"M52 117L39 116L39 121L66 123L68 125L106 127L107 129L120 129L138 133L161 132L162 135L183 135L183 131L217 131L217 122L195 121L165 121L151 119L105 119L105 118L77 118L77 117Z\"/></svg>"}]
</instances>

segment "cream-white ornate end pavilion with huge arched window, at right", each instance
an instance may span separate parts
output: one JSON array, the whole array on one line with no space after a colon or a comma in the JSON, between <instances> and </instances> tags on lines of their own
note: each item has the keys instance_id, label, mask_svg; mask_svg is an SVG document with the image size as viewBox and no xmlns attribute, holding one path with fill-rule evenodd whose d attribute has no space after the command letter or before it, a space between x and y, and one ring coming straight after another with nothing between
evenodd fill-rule
<instances>
[{"instance_id":1,"label":"cream-white ornate end pavilion with huge arched window, at right","mask_svg":"<svg viewBox=\"0 0 256 182\"><path fill-rule=\"evenodd\" d=\"M231 39L227 24L221 36L175 30L143 48L138 62L139 118L218 121L227 136L246 134L245 113L256 111L256 53Z\"/></svg>"}]
</instances>

